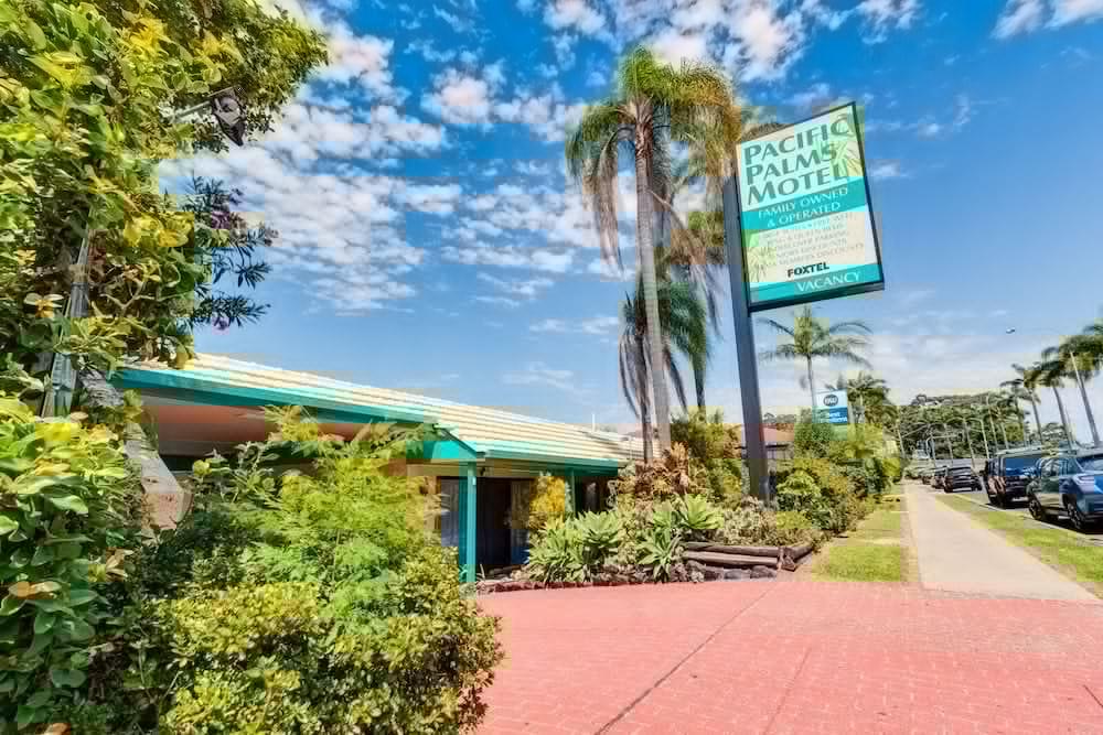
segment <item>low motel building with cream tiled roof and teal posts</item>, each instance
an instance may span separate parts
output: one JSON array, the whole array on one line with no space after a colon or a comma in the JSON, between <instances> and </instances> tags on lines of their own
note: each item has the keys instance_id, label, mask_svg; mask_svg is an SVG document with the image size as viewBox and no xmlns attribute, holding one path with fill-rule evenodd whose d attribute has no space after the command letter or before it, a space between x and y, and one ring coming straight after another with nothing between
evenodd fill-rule
<instances>
[{"instance_id":1,"label":"low motel building with cream tiled roof and teal posts","mask_svg":"<svg viewBox=\"0 0 1103 735\"><path fill-rule=\"evenodd\" d=\"M643 458L639 437L213 355L183 369L132 365L111 382L141 394L157 451L174 474L190 473L211 452L231 456L238 444L264 441L271 430L266 406L302 406L323 431L345 439L368 423L431 425L421 451L388 468L431 478L441 508L435 528L441 543L457 549L465 581L525 560L525 533L511 531L506 516L539 474L566 480L569 507L598 510L609 480Z\"/></svg>"}]
</instances>

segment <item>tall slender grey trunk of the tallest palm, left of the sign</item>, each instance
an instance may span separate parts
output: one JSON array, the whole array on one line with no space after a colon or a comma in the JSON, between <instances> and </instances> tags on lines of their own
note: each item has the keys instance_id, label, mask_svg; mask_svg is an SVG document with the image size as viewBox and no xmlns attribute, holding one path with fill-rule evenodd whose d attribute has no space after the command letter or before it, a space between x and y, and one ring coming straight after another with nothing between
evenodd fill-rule
<instances>
[{"instance_id":1,"label":"tall slender grey trunk of the tallest palm, left of the sign","mask_svg":"<svg viewBox=\"0 0 1103 735\"><path fill-rule=\"evenodd\" d=\"M635 155L635 228L640 251L640 275L643 280L643 306L647 315L647 353L651 356L652 398L655 401L655 423L658 425L658 448L671 446L671 396L666 390L666 360L663 357L663 324L658 318L658 284L655 280L655 248L651 239L651 183L647 176L646 131L636 133Z\"/></svg>"}]
</instances>

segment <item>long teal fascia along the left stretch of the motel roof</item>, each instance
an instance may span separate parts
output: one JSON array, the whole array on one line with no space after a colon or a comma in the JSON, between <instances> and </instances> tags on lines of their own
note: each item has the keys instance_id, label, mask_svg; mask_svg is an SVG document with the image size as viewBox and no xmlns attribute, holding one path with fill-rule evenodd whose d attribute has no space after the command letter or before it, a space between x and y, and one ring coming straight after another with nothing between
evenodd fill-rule
<instances>
[{"instance_id":1,"label":"long teal fascia along the left stretch of the motel roof","mask_svg":"<svg viewBox=\"0 0 1103 735\"><path fill-rule=\"evenodd\" d=\"M218 380L203 370L147 370L126 368L115 374L111 382L124 390L169 390L182 392L184 400L205 406L302 406L317 409L322 421L366 423L395 421L429 423L431 418L417 409L346 403L328 397L323 389L282 390L255 388ZM315 392L317 391L317 392ZM328 391L335 393L336 391ZM319 394L322 393L322 394Z\"/></svg>"}]
</instances>

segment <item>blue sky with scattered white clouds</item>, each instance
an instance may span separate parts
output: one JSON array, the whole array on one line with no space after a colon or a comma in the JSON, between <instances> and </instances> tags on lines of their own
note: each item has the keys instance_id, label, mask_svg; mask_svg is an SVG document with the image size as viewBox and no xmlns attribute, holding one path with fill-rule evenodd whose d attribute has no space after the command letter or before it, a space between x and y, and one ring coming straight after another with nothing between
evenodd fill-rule
<instances>
[{"instance_id":1,"label":"blue sky with scattered white clouds","mask_svg":"<svg viewBox=\"0 0 1103 735\"><path fill-rule=\"evenodd\" d=\"M887 290L817 310L874 327L897 401L994 388L1101 315L1103 0L281 4L328 34L331 65L264 141L178 166L234 182L282 236L269 315L201 350L630 422L615 343L631 275L599 258L563 138L635 44L720 66L782 121L865 106ZM708 398L739 421L722 329ZM760 374L767 410L804 404L794 367Z\"/></svg>"}]
</instances>

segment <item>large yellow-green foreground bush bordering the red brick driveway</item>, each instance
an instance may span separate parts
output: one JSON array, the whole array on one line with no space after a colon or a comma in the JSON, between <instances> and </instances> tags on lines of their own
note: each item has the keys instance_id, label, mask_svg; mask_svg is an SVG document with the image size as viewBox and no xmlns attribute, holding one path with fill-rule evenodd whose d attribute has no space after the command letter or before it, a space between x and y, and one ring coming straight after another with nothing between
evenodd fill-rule
<instances>
[{"instance_id":1,"label":"large yellow-green foreground bush bordering the red brick driveway","mask_svg":"<svg viewBox=\"0 0 1103 735\"><path fill-rule=\"evenodd\" d=\"M104 732L473 727L497 624L425 532L416 484L382 472L418 434L375 426L346 444L270 415L268 442L196 463L201 510L137 558L133 625L96 672ZM310 476L261 461L289 440Z\"/></svg>"}]
</instances>

